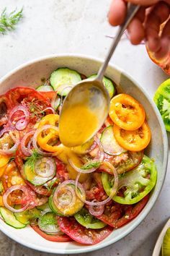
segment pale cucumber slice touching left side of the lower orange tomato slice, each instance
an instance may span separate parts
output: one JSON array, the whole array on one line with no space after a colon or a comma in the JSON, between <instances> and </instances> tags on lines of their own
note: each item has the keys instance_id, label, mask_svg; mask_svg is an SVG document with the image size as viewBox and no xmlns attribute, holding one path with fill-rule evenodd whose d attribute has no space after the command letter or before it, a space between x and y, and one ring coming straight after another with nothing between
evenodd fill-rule
<instances>
[{"instance_id":1,"label":"pale cucumber slice touching left side of the lower orange tomato slice","mask_svg":"<svg viewBox=\"0 0 170 256\"><path fill-rule=\"evenodd\" d=\"M115 140L112 125L104 129L100 140L104 152L109 155L120 155L126 151L124 148L120 147L120 145Z\"/></svg>"}]
</instances>

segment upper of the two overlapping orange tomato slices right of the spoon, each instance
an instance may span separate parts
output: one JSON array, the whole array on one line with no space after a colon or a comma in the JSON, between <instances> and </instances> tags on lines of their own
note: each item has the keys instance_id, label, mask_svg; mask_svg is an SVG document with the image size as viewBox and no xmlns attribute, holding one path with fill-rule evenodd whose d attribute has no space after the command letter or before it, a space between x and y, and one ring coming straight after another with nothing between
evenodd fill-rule
<instances>
[{"instance_id":1,"label":"upper of the two overlapping orange tomato slices right of the spoon","mask_svg":"<svg viewBox=\"0 0 170 256\"><path fill-rule=\"evenodd\" d=\"M143 106L133 97L122 93L112 98L109 116L118 127L134 131L141 127L146 118Z\"/></svg>"}]
</instances>

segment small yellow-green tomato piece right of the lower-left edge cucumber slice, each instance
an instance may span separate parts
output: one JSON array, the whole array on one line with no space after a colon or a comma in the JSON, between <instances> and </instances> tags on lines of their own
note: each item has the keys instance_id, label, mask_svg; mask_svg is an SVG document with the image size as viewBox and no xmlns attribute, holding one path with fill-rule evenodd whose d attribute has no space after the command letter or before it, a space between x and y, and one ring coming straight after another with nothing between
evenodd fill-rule
<instances>
[{"instance_id":1,"label":"small yellow-green tomato piece right of the lower-left edge cucumber slice","mask_svg":"<svg viewBox=\"0 0 170 256\"><path fill-rule=\"evenodd\" d=\"M40 216L40 210L37 210L37 208L32 208L30 210L25 210L24 212L21 213L14 213L14 216L17 219L17 221L27 225L30 223L30 221Z\"/></svg>"}]
</instances>

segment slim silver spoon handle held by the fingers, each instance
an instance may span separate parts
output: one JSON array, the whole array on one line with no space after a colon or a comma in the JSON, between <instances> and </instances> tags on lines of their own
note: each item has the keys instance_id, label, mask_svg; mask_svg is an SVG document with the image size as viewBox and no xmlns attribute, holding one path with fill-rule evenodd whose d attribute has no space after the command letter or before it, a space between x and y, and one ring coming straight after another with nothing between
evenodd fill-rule
<instances>
[{"instance_id":1,"label":"slim silver spoon handle held by the fingers","mask_svg":"<svg viewBox=\"0 0 170 256\"><path fill-rule=\"evenodd\" d=\"M107 58L105 59L104 63L102 64L102 67L99 69L99 72L97 74L97 79L96 80L102 81L102 78L104 76L104 72L107 69L107 65L109 63L109 59L112 57L112 54L115 51L117 43L119 43L119 41L120 41L122 33L128 27L130 21L133 19L133 17L135 16L136 12L138 12L139 8L140 8L139 5L128 3L128 10L127 10L127 14L126 14L126 17L125 17L125 22L122 23L122 25L120 26L119 30L117 31L115 39L112 42L112 46L109 49L109 52L107 54Z\"/></svg>"}]
</instances>

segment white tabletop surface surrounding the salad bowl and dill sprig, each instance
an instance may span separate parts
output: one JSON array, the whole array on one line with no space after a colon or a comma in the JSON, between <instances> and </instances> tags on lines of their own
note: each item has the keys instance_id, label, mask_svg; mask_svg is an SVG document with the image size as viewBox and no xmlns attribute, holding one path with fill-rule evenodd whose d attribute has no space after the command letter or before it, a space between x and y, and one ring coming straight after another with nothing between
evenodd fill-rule
<instances>
[{"instance_id":1,"label":"white tabletop surface surrounding the salad bowl and dill sprig","mask_svg":"<svg viewBox=\"0 0 170 256\"><path fill-rule=\"evenodd\" d=\"M86 54L103 59L112 40L105 35L114 36L116 31L107 22L109 4L110 0L0 0L0 12L4 7L9 11L24 7L24 19L17 29L0 35L0 77L25 61L48 54ZM168 78L148 58L145 46L132 46L125 36L112 63L131 74L151 97ZM156 237L170 216L169 179L168 170L156 205L135 231L107 248L84 255L151 255ZM2 233L0 255L48 256L22 247Z\"/></svg>"}]
</instances>

